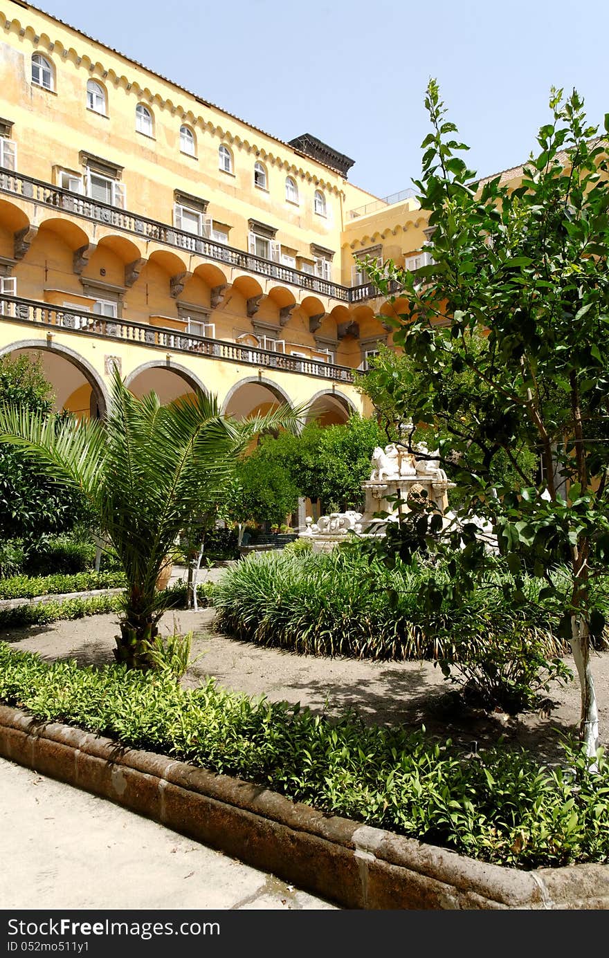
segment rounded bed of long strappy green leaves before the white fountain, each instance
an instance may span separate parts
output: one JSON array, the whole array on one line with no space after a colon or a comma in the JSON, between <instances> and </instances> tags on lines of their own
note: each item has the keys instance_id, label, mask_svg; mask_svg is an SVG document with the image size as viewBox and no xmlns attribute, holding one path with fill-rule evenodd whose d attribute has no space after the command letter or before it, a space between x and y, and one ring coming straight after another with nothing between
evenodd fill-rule
<instances>
[{"instance_id":1,"label":"rounded bed of long strappy green leaves before the white fountain","mask_svg":"<svg viewBox=\"0 0 609 958\"><path fill-rule=\"evenodd\" d=\"M399 559L387 569L354 549L251 555L216 587L217 627L260 645L355 658L454 659L459 648L483 648L489 635L514 630L548 655L562 651L551 612L533 601L535 582L526 583L529 601L518 606L505 600L497 577L453 608L421 603L430 579L448 581L449 572Z\"/></svg>"}]
</instances>

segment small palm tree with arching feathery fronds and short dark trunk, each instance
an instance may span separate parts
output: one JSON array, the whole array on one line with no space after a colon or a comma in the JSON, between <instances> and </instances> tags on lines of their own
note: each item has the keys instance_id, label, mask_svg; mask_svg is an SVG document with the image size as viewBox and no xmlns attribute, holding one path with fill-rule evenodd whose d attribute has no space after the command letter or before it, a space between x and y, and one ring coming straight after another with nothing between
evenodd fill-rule
<instances>
[{"instance_id":1,"label":"small palm tree with arching feathery fronds and short dark trunk","mask_svg":"<svg viewBox=\"0 0 609 958\"><path fill-rule=\"evenodd\" d=\"M237 422L200 392L165 406L154 393L136 399L117 372L111 399L105 422L5 406L0 441L22 446L66 494L78 490L89 503L127 578L115 657L147 668L171 601L155 584L176 536L219 496L253 437L294 430L304 410L282 406Z\"/></svg>"}]
</instances>

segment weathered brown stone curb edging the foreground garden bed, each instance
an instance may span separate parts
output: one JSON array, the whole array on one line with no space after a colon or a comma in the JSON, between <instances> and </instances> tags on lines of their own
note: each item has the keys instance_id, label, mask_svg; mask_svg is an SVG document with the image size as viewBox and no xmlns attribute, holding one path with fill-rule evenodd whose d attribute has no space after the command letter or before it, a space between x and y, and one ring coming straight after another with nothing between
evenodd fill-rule
<instances>
[{"instance_id":1,"label":"weathered brown stone curb edging the foreground garden bed","mask_svg":"<svg viewBox=\"0 0 609 958\"><path fill-rule=\"evenodd\" d=\"M354 909L605 909L609 866L523 872L0 705L0 755Z\"/></svg>"}]
</instances>

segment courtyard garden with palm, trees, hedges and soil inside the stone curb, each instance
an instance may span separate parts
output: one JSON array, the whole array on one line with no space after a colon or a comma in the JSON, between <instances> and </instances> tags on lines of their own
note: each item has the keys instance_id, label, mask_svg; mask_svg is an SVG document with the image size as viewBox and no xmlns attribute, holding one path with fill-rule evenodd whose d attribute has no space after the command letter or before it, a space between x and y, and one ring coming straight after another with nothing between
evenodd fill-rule
<instances>
[{"instance_id":1,"label":"courtyard garden with palm, trees, hedges and soil inside the stone curb","mask_svg":"<svg viewBox=\"0 0 609 958\"><path fill-rule=\"evenodd\" d=\"M397 502L384 536L242 559L203 582L209 607L186 610L194 584L160 584L178 536L197 553L252 439L296 434L302 411L234 422L200 395L134 399L118 374L105 423L9 397L17 490L19 475L45 476L49 522L69 506L72 529L88 523L109 548L98 573L51 563L32 580L43 537L19 559L14 536L2 594L120 591L70 600L87 617L53 628L74 618L68 604L3 609L0 701L483 861L607 862L605 160L577 95L558 92L523 186L477 194L433 81L427 106L417 185L433 263L372 271L404 291L403 352L362 382L377 412L363 431L409 455L433 434L453 518L425 496ZM26 545L41 512L22 516Z\"/></svg>"}]
</instances>

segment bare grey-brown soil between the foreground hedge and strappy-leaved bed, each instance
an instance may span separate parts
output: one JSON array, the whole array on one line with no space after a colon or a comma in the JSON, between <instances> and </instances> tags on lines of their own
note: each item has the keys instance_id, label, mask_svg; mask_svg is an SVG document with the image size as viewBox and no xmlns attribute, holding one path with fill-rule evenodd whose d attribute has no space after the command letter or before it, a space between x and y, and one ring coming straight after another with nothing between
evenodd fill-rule
<instances>
[{"instance_id":1,"label":"bare grey-brown soil between the foreground hedge and strappy-leaved bed","mask_svg":"<svg viewBox=\"0 0 609 958\"><path fill-rule=\"evenodd\" d=\"M446 694L453 688L432 662L370 662L346 658L321 658L264 649L213 630L214 610L168 614L162 632L194 630L193 663L183 684L196 687L214 676L224 687L248 696L300 702L316 713L336 717L355 710L365 722L412 729L424 726L430 735L452 739L470 751L495 744L524 746L540 762L559 762L560 742L576 736L579 686L576 677L566 687L550 692L553 707L547 712L521 714L482 712L457 715L447 712ZM0 633L12 648L38 652L46 661L76 659L79 665L114 661L115 614L91 616L50 626L21 627ZM565 658L574 671L573 661ZM609 743L609 651L594 653L592 662L597 689L600 740Z\"/></svg>"}]
</instances>

